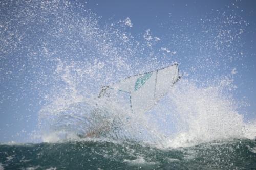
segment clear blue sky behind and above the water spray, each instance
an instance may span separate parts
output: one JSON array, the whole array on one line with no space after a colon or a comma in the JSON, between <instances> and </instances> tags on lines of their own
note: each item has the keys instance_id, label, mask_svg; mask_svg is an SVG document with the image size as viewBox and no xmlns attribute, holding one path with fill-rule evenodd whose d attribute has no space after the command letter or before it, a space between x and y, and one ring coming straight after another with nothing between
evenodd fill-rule
<instances>
[{"instance_id":1,"label":"clear blue sky behind and above the water spray","mask_svg":"<svg viewBox=\"0 0 256 170\"><path fill-rule=\"evenodd\" d=\"M39 131L39 112L47 103L46 96L49 94L54 95L54 92L49 89L56 82L45 83L51 80L46 77L52 76L49 73L51 71L46 71L46 68L56 69L57 60L51 60L50 52L54 48L63 47L60 49L62 52L57 56L61 60L62 57L67 57L65 56L66 50L64 47L69 49L69 46L65 46L65 41L76 41L77 35L70 35L70 39L65 36L63 40L61 37L48 40L47 36L50 36L50 34L40 35L36 32L36 27L34 26L38 22L48 23L48 25L46 24L48 27L41 27L39 30L48 30L49 33L56 34L56 29L61 32L63 27L65 31L66 22L76 26L75 22L77 20L90 18L89 20L92 22L90 28L94 28L95 25L98 29L103 30L102 32L96 31L94 33L104 34L104 29L110 28L110 25L114 23L117 25L115 29L135 37L130 39L135 44L136 42L143 44L144 41L142 42L141 40L143 37L146 39L146 37L152 36L156 42L152 42L150 47L147 46L148 50L140 54L147 55L151 51L155 52L156 60L158 60L156 63L160 64L148 68L145 67L145 69L140 69L139 65L136 64L131 67L137 68L138 72L141 73L141 70L148 71L152 68L166 66L171 62L178 62L180 71L186 75L187 79L194 79L196 74L200 74L201 76L198 76L197 81L202 82L202 84L208 80L215 79L217 75L223 76L226 74L229 77L234 75L232 84L236 86L236 89L231 93L234 99L243 105L243 107L239 108L241 109L241 114L244 114L245 121L256 118L256 2L253 0L161 0L146 2L96 0L77 1L77 4L70 1L73 8L63 10L69 13L64 12L62 13L64 14L63 17L59 16L60 20L58 23L56 22L57 26L49 24L51 23L51 14L45 14L47 17L44 17L44 13L37 14L36 10L32 10L33 6L24 5L26 4L24 1L20 1L20 4L26 8L24 10L19 9L21 11L19 14L23 14L19 15L19 17L16 16L18 12L15 5L10 3L5 5L5 2L7 1L0 5L0 33L2 34L0 37L2 39L0 44L0 96L2 96L0 100L0 142L34 141L33 137ZM40 4L40 1L35 2ZM58 3L53 4L57 5L57 7L51 6L51 3L45 3L46 11L47 8L59 9L58 5L65 6L62 1L56 2ZM34 15L30 15L29 12L34 13ZM56 14L56 12L53 12L52 17L54 18ZM69 16L72 17L69 18ZM61 20L62 18L63 20ZM65 20L67 18L70 20ZM126 26L123 28L121 21L125 20L128 22L125 22ZM27 27L22 25L23 21ZM80 25L79 27L82 28ZM72 29L72 27L69 28ZM34 32L37 34L34 34ZM110 36L109 32L108 35ZM25 39L23 40L22 38ZM88 37L88 39L90 38ZM63 44L63 46L52 45L49 48L43 48L44 43L33 44L35 40L42 42L41 39L53 44ZM115 41L113 37L107 37L106 41L108 40ZM100 41L100 39L95 39L95 41ZM115 45L118 46L118 42ZM148 42L150 41L148 40ZM127 46L127 42L125 43ZM216 45L215 48L212 47L214 45ZM101 43L100 46L104 45ZM126 46L120 45L120 48ZM137 45L136 47L140 46ZM90 51L94 47L88 49ZM156 49L161 49L164 52ZM76 54L75 50L67 53L70 55ZM41 53L49 53L50 57L48 56L47 60L50 60L49 65L45 66L44 62L40 63L41 60L44 60L40 58ZM53 57L54 54L57 54L57 52L52 53ZM77 52L77 54L80 53ZM90 52L90 54L94 53ZM161 55L166 55L170 58L166 59ZM201 57L203 55L206 57ZM35 57L36 62L31 60L30 56ZM130 63L143 61L142 56L134 61L129 61ZM211 60L211 62L208 60ZM146 64L151 61L153 61L153 58L148 59ZM202 68L199 71L191 71L193 69L191 65L195 65L195 67L201 66ZM216 70L211 70L214 66L216 66ZM138 72L134 71L133 73L136 74ZM34 76L34 74L40 74L41 76ZM51 93L48 91L51 91Z\"/></svg>"}]
</instances>

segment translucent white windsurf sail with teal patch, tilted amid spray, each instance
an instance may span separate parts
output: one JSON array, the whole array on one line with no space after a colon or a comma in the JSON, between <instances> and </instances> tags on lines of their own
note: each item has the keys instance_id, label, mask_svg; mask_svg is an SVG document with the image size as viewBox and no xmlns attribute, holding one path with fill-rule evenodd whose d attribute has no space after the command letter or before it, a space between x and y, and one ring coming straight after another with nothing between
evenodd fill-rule
<instances>
[{"instance_id":1,"label":"translucent white windsurf sail with teal patch, tilted amid spray","mask_svg":"<svg viewBox=\"0 0 256 170\"><path fill-rule=\"evenodd\" d=\"M108 93L106 91L109 89L129 93L131 112L145 113L160 101L180 78L178 64L174 64L102 87L99 98Z\"/></svg>"}]
</instances>

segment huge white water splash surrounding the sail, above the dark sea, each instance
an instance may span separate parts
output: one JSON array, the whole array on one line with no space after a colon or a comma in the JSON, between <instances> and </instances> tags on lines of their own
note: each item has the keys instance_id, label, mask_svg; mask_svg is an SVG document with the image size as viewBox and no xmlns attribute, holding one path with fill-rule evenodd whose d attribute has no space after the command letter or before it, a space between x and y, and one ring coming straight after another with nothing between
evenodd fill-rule
<instances>
[{"instance_id":1,"label":"huge white water splash surrounding the sail, above the dark sea","mask_svg":"<svg viewBox=\"0 0 256 170\"><path fill-rule=\"evenodd\" d=\"M133 35L130 18L103 24L70 1L1 5L2 79L11 83L25 77L23 88L43 101L42 141L129 140L179 147L255 137L255 124L243 122L232 96L232 75L240 67L227 66L243 54L240 35L247 23L241 17L224 11L211 12L195 25L167 22L166 34L159 37L150 29ZM101 85L174 62L180 63L183 80L146 114L129 113L124 98L97 98Z\"/></svg>"}]
</instances>

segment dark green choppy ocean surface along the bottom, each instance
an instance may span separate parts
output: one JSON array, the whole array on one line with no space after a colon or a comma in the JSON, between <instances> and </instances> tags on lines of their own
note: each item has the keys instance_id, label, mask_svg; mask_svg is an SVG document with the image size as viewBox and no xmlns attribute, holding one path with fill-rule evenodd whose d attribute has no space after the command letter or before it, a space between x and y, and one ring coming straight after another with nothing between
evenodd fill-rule
<instances>
[{"instance_id":1,"label":"dark green choppy ocean surface along the bottom","mask_svg":"<svg viewBox=\"0 0 256 170\"><path fill-rule=\"evenodd\" d=\"M179 148L108 141L2 143L0 169L256 169L256 141Z\"/></svg>"}]
</instances>

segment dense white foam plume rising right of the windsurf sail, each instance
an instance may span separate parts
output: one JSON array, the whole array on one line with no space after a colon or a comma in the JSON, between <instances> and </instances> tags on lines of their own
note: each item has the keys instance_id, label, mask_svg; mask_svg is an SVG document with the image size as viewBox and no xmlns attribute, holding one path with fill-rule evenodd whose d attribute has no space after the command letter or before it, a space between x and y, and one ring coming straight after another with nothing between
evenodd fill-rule
<instances>
[{"instance_id":1,"label":"dense white foam plume rising right of the windsurf sail","mask_svg":"<svg viewBox=\"0 0 256 170\"><path fill-rule=\"evenodd\" d=\"M230 85L224 81L226 79L221 81L222 86L197 87L183 79L171 89L168 100L156 108L157 116L166 124L163 128L168 136L162 142L164 147L190 147L215 140L255 138L256 124L244 122L232 96L223 92Z\"/></svg>"}]
</instances>

